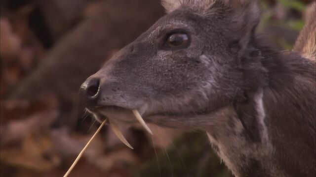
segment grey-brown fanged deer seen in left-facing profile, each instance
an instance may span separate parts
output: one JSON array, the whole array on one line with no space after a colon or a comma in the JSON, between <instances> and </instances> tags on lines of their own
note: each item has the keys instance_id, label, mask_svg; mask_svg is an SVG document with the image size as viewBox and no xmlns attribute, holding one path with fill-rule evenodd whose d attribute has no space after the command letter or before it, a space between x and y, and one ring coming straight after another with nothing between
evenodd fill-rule
<instances>
[{"instance_id":1,"label":"grey-brown fanged deer seen in left-facing profile","mask_svg":"<svg viewBox=\"0 0 316 177\"><path fill-rule=\"evenodd\" d=\"M257 0L161 2L166 15L84 81L86 109L203 130L236 177L316 177L316 3L278 51L256 31Z\"/></svg>"}]
</instances>

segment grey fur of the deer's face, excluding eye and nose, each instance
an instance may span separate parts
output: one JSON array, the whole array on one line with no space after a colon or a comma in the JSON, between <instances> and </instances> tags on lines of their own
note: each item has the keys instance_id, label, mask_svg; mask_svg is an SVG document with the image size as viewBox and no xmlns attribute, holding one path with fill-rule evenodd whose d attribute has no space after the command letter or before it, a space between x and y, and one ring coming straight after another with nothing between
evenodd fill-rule
<instances>
[{"instance_id":1,"label":"grey fur of the deer's face, excluding eye and nose","mask_svg":"<svg viewBox=\"0 0 316 177\"><path fill-rule=\"evenodd\" d=\"M99 104L128 109L146 106L146 114L195 114L216 110L241 96L237 54L229 51L239 36L227 31L236 19L223 14L234 12L224 4L214 5L209 10L212 15L177 9L118 52L93 76L104 83L101 89L106 94ZM249 40L253 25L235 27L247 38L240 40ZM165 35L175 29L187 32L189 47L161 49Z\"/></svg>"}]
</instances>

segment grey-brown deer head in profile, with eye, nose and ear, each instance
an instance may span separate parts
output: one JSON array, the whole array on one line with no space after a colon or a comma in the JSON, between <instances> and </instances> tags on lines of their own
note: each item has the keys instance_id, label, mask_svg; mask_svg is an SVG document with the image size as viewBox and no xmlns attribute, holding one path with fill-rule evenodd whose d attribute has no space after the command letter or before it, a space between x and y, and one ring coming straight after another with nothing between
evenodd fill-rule
<instances>
[{"instance_id":1,"label":"grey-brown deer head in profile, with eye, nose and ear","mask_svg":"<svg viewBox=\"0 0 316 177\"><path fill-rule=\"evenodd\" d=\"M89 111L170 127L212 124L203 115L241 100L249 89L244 67L259 21L256 1L163 0L167 15L121 49L81 86ZM248 62L248 63L245 63ZM249 64L250 63L250 64ZM256 89L260 83L254 82ZM253 84L253 83L251 83Z\"/></svg>"}]
</instances>

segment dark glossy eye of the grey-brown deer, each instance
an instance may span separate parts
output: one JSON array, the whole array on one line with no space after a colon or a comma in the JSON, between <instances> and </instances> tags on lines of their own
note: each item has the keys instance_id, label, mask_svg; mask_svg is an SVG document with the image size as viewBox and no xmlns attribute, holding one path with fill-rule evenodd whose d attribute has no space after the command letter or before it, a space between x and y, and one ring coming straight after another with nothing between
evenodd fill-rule
<instances>
[{"instance_id":1,"label":"dark glossy eye of the grey-brown deer","mask_svg":"<svg viewBox=\"0 0 316 177\"><path fill-rule=\"evenodd\" d=\"M165 47L167 48L181 48L189 44L189 37L185 33L169 34L166 38Z\"/></svg>"}]
</instances>

